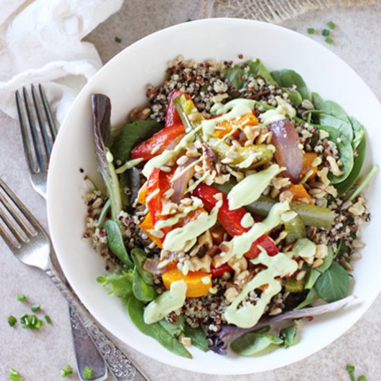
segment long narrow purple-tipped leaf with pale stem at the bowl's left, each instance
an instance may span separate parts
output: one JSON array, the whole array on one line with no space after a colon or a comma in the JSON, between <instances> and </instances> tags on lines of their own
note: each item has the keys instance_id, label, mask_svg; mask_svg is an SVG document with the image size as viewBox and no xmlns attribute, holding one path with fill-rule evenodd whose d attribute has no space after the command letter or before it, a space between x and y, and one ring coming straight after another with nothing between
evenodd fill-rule
<instances>
[{"instance_id":1,"label":"long narrow purple-tipped leaf with pale stem at the bowl's left","mask_svg":"<svg viewBox=\"0 0 381 381\"><path fill-rule=\"evenodd\" d=\"M91 96L93 107L94 145L98 170L105 181L107 195L111 203L111 214L117 220L122 210L121 190L118 176L116 175L113 157L109 151L111 144L111 102L104 94L93 94Z\"/></svg>"}]
</instances>

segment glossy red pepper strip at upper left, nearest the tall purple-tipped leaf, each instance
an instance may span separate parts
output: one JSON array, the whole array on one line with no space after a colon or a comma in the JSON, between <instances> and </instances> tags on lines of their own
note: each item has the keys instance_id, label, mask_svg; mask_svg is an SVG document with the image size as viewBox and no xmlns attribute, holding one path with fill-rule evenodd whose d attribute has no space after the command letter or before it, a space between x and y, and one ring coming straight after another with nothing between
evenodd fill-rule
<instances>
[{"instance_id":1,"label":"glossy red pepper strip at upper left, nearest the tall purple-tipped leaf","mask_svg":"<svg viewBox=\"0 0 381 381\"><path fill-rule=\"evenodd\" d=\"M143 141L131 152L131 159L143 159L143 161L148 161L163 152L170 143L172 143L177 137L185 133L185 128L182 123L177 123L175 125L170 125L164 127L156 134L152 135L150 139Z\"/></svg>"}]
</instances>

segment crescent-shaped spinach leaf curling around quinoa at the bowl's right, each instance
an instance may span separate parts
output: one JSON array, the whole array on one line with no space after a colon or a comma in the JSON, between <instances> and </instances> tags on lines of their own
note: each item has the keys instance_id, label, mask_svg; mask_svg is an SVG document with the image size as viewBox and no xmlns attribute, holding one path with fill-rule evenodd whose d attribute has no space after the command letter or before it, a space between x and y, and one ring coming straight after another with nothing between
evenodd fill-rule
<instances>
[{"instance_id":1,"label":"crescent-shaped spinach leaf curling around quinoa at the bowl's right","mask_svg":"<svg viewBox=\"0 0 381 381\"><path fill-rule=\"evenodd\" d=\"M348 136L346 136L346 134L343 134L339 130L336 130L334 127L329 127L326 125L314 126L318 127L319 130L324 130L328 132L329 137L327 139L333 141L333 143L336 144L337 149L339 150L340 160L343 163L343 166L340 169L344 173L342 176L339 177L333 175L333 173L330 173L328 175L328 178L330 179L332 184L339 184L349 176L353 168L354 159L351 141L348 139Z\"/></svg>"}]
</instances>

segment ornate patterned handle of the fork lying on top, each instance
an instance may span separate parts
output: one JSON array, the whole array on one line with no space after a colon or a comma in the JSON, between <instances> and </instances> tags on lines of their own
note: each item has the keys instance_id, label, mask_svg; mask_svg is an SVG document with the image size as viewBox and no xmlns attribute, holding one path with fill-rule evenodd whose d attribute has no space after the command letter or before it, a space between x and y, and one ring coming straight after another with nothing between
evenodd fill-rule
<instances>
[{"instance_id":1,"label":"ornate patterned handle of the fork lying on top","mask_svg":"<svg viewBox=\"0 0 381 381\"><path fill-rule=\"evenodd\" d=\"M105 359L109 370L117 381L148 381L148 378L132 363L132 361L112 342L112 340L101 330L94 321L89 317L89 313L85 307L78 301L77 297L61 280L57 271L50 263L46 274L51 281L57 286L58 290L64 295L69 303L73 314L80 320L87 330L89 337L94 342L100 355Z\"/></svg>"}]
</instances>

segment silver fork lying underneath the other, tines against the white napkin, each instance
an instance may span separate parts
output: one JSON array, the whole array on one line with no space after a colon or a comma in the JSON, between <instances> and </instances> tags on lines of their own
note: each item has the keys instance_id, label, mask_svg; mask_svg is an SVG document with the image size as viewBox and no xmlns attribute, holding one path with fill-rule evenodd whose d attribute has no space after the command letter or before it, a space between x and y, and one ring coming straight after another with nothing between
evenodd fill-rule
<instances>
[{"instance_id":1,"label":"silver fork lying underneath the other, tines against the white napkin","mask_svg":"<svg viewBox=\"0 0 381 381\"><path fill-rule=\"evenodd\" d=\"M30 181L37 193L46 198L48 163L51 156L51 149L53 147L55 137L57 136L57 128L55 127L54 118L44 89L42 85L38 85L38 87L39 96L35 87L33 85L31 86L34 107L32 107L30 103L28 91L25 87L22 89L26 116L23 111L24 107L19 91L16 91L16 103L24 152L30 173ZM44 109L44 114L42 109ZM37 116L39 128L37 127L34 114ZM28 124L26 123L26 118L28 119ZM46 124L48 125L48 128L46 127ZM73 334L73 344L76 352L77 368L80 379L82 380L82 369L86 365L91 365L91 368L94 369L94 377L96 377L93 380L105 380L105 378L107 378L107 366L103 360L103 357L101 357L102 352L94 346L93 340L87 334L85 327L82 326L78 313L71 308L69 308L69 312Z\"/></svg>"}]
</instances>

